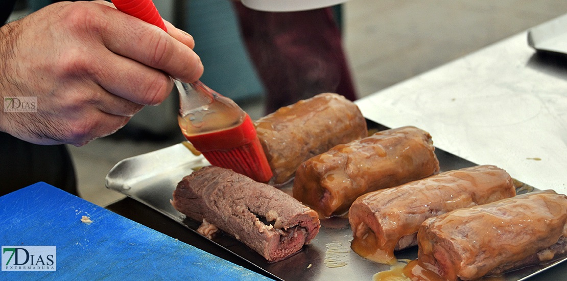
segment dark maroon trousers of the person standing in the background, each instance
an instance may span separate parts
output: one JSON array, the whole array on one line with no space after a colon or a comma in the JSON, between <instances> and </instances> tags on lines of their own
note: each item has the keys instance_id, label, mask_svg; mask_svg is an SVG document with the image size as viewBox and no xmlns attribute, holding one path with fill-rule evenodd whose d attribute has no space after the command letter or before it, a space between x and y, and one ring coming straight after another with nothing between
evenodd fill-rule
<instances>
[{"instance_id":1,"label":"dark maroon trousers of the person standing in the background","mask_svg":"<svg viewBox=\"0 0 567 281\"><path fill-rule=\"evenodd\" d=\"M325 92L356 100L332 8L263 12L233 3L244 43L268 92L266 114Z\"/></svg>"}]
</instances>

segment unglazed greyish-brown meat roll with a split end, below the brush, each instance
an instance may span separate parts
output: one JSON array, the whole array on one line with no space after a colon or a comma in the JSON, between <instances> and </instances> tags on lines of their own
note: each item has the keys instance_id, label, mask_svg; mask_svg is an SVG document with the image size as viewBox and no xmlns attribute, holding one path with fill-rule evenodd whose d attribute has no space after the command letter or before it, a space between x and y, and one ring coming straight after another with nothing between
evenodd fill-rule
<instances>
[{"instance_id":1,"label":"unglazed greyish-brown meat roll with a split end, below the brush","mask_svg":"<svg viewBox=\"0 0 567 281\"><path fill-rule=\"evenodd\" d=\"M319 232L319 217L312 209L273 186L221 167L206 166L184 177L171 204L272 262L301 250Z\"/></svg>"}]
</instances>

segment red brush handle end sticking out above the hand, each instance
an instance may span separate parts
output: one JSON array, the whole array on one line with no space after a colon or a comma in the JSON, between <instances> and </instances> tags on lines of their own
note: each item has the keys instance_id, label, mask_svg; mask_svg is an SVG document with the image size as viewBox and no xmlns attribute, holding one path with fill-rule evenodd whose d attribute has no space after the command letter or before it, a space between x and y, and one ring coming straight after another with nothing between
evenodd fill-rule
<instances>
[{"instance_id":1,"label":"red brush handle end sticking out above the hand","mask_svg":"<svg viewBox=\"0 0 567 281\"><path fill-rule=\"evenodd\" d=\"M112 0L112 3L124 14L135 16L167 32L166 24L151 0Z\"/></svg>"}]
</instances>

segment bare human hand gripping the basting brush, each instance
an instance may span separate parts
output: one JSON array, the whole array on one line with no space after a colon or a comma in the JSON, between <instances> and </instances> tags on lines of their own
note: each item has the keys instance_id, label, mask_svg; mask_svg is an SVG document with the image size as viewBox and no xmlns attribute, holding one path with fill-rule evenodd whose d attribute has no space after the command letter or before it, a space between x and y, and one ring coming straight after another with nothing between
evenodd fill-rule
<instances>
[{"instance_id":1,"label":"bare human hand gripping the basting brush","mask_svg":"<svg viewBox=\"0 0 567 281\"><path fill-rule=\"evenodd\" d=\"M0 111L0 131L35 144L87 144L159 104L171 77L203 72L191 35L168 33L106 1L58 2L0 28L0 97L36 97L36 112Z\"/></svg>"}]
</instances>

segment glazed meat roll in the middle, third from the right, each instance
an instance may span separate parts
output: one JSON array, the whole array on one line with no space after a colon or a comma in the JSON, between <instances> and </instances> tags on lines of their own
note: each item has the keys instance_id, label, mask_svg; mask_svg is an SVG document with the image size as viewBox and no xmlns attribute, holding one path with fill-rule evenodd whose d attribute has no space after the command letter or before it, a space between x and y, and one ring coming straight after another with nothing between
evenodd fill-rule
<instances>
[{"instance_id":1,"label":"glazed meat roll in the middle, third from the right","mask_svg":"<svg viewBox=\"0 0 567 281\"><path fill-rule=\"evenodd\" d=\"M358 196L439 172L428 132L401 127L337 145L303 162L293 196L320 216L341 215Z\"/></svg>"}]
</instances>

